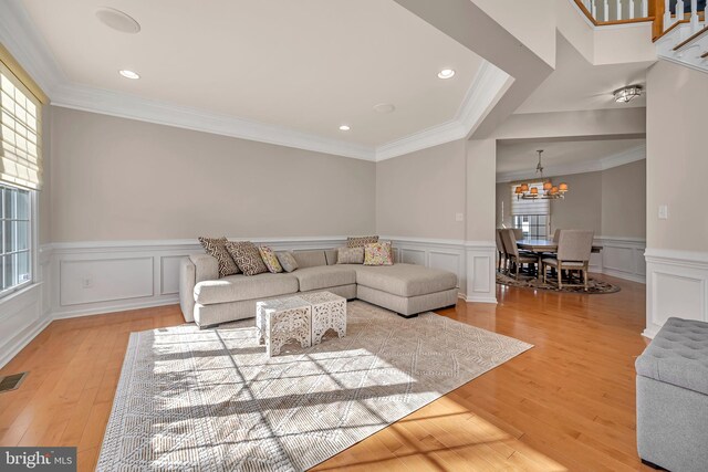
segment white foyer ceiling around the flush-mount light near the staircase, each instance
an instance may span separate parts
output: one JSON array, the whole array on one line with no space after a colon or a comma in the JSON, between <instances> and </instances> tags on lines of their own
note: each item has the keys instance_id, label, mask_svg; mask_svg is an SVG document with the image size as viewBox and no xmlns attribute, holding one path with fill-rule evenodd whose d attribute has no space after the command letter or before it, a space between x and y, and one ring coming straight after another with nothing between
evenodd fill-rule
<instances>
[{"instance_id":1,"label":"white foyer ceiling around the flush-mount light near the staircase","mask_svg":"<svg viewBox=\"0 0 708 472\"><path fill-rule=\"evenodd\" d=\"M647 63L592 65L562 35L558 35L556 69L516 113L646 107L646 97L616 103L617 88L646 83Z\"/></svg>"}]
</instances>

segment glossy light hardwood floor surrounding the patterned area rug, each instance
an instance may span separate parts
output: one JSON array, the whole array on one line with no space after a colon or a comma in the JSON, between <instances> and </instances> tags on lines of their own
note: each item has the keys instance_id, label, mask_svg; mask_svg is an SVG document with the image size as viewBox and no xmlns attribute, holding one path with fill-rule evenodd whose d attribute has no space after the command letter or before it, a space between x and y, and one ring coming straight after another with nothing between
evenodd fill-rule
<instances>
[{"instance_id":1,"label":"glossy light hardwood floor surrounding the patterned area rug","mask_svg":"<svg viewBox=\"0 0 708 472\"><path fill-rule=\"evenodd\" d=\"M332 470L642 470L634 360L648 339L644 285L610 295L498 286L498 305L444 316L533 344L521 356L320 464ZM0 375L0 445L76 445L93 470L131 332L183 323L178 306L53 322Z\"/></svg>"}]
</instances>

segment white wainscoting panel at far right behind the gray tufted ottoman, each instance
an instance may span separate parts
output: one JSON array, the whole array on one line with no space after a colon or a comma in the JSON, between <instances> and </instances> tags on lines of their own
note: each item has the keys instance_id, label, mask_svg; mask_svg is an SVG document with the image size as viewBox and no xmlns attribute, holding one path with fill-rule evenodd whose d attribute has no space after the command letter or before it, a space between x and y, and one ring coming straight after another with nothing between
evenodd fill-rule
<instances>
[{"instance_id":1,"label":"white wainscoting panel at far right behind the gray tufted ottoman","mask_svg":"<svg viewBox=\"0 0 708 472\"><path fill-rule=\"evenodd\" d=\"M671 316L708 322L708 253L647 249L646 274L644 336Z\"/></svg>"}]
</instances>

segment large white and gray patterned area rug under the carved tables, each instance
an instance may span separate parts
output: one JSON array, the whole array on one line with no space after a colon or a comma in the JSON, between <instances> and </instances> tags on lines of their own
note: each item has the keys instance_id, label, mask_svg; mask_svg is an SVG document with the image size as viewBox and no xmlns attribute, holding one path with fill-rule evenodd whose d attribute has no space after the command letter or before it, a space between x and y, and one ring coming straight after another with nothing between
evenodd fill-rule
<instances>
[{"instance_id":1,"label":"large white and gray patterned area rug under the carved tables","mask_svg":"<svg viewBox=\"0 0 708 472\"><path fill-rule=\"evenodd\" d=\"M311 468L532 346L348 304L347 336L269 358L254 321L133 333L100 471Z\"/></svg>"}]
</instances>

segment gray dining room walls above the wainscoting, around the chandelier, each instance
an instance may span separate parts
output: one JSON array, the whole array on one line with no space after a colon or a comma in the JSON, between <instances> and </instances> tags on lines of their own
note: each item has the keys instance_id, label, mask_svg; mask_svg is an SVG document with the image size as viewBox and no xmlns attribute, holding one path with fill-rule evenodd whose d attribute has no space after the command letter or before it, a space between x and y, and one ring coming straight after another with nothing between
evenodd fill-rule
<instances>
[{"instance_id":1,"label":"gray dining room walls above the wainscoting, around the chandelier","mask_svg":"<svg viewBox=\"0 0 708 472\"><path fill-rule=\"evenodd\" d=\"M566 182L571 191L564 200L551 201L551 234L556 228L574 228L604 237L646 237L646 160L552 180ZM497 183L496 221L498 228L511 225L509 182Z\"/></svg>"}]
</instances>

